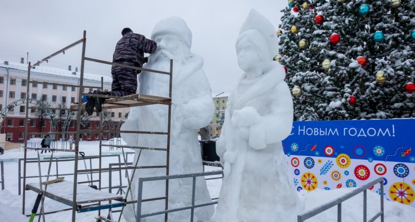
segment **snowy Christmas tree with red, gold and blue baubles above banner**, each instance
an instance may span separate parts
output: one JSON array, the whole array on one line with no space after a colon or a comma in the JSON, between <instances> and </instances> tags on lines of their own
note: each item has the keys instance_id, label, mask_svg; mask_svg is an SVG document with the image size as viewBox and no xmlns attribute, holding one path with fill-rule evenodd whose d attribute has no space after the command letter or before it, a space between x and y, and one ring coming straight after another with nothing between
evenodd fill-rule
<instances>
[{"instance_id":1,"label":"snowy Christmas tree with red, gold and blue baubles above banner","mask_svg":"<svg viewBox=\"0 0 415 222\"><path fill-rule=\"evenodd\" d=\"M415 0L289 0L280 27L295 120L415 117Z\"/></svg>"}]
</instances>

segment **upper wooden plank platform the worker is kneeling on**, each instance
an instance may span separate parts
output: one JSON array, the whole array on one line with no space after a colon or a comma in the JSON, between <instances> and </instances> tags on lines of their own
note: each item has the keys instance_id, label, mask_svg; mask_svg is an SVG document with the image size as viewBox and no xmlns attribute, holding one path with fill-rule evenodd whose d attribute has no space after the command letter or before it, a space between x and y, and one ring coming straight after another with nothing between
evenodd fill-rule
<instances>
[{"instance_id":1,"label":"upper wooden plank platform the worker is kneeling on","mask_svg":"<svg viewBox=\"0 0 415 222\"><path fill-rule=\"evenodd\" d=\"M106 99L104 104L102 105L103 110L108 109L117 109L117 108L124 108L124 107L138 107L138 106L146 106L152 104L171 104L171 98L168 97L161 97L161 96L152 96L152 95L145 95L145 94L133 94L129 96L123 96L119 98L110 98ZM78 104L72 104L71 109L76 109ZM85 107L85 103L82 104L82 107Z\"/></svg>"}]
</instances>

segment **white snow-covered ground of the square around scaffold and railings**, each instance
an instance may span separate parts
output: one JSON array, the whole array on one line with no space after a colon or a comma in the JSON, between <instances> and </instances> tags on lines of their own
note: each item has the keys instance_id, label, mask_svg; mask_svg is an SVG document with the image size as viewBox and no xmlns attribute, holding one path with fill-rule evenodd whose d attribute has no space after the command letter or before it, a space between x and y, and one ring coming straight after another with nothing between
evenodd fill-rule
<instances>
[{"instance_id":1,"label":"white snow-covered ground of the square around scaffold and railings","mask_svg":"<svg viewBox=\"0 0 415 222\"><path fill-rule=\"evenodd\" d=\"M81 142L80 150L84 151L86 155L96 155L99 153L98 142ZM125 151L132 151L126 149ZM108 147L103 147L103 154L121 154L121 150L110 151ZM73 155L68 152L57 152L54 156L69 156ZM28 157L36 157L35 151L28 151ZM41 154L42 157L48 157L49 153ZM17 159L23 158L23 152L6 152L0 156L0 159L4 159L4 180L5 190L0 191L0 221L1 222L26 222L29 219L21 215L22 211L22 197L18 196L18 164ZM128 161L132 160L132 155L128 156ZM121 161L122 157L121 157ZM117 157L105 157L103 158L102 167L108 167L109 163L118 163ZM61 162L59 163L59 174L73 172L73 162ZM92 165L96 167L98 164L97 160L92 161ZM23 164L22 164L23 165ZM89 168L89 161L87 161ZM83 169L83 161L79 162L79 169ZM23 169L23 168L22 168ZM52 164L51 174L56 173L56 166ZM206 167L207 171L218 170L217 167ZM47 163L42 164L42 174L47 172ZM23 172L21 172L23 174ZM37 163L28 164L28 175L38 175ZM93 175L96 179L97 175ZM53 177L54 178L54 177ZM80 175L78 181L86 181L85 175ZM65 180L72 180L72 177L65 176ZM126 185L126 178L124 172L122 173L123 185ZM44 179L43 179L44 181ZM39 183L38 178L28 179L29 183ZM102 174L102 186L108 186L109 178L108 173ZM119 173L113 172L112 178L113 185L119 184ZM221 180L208 180L207 186L212 198L219 196L221 187ZM105 189L108 190L108 189ZM327 203L328 201L339 197L347 192L350 192L353 188L342 188L333 190L315 190L307 192L302 190L299 192L300 202L303 207L303 211L310 210L321 204ZM124 189L125 191L125 189ZM114 192L114 190L113 190ZM117 192L117 190L115 190ZM115 193L114 192L114 193ZM26 214L30 214L33 204L35 202L37 193L33 191L27 191L26 196ZM190 195L190 194L189 194ZM271 194L270 194L271 195ZM374 216L380 210L379 195L373 191L368 192L368 218ZM284 201L284 200L282 200ZM69 208L66 205L60 204L54 200L45 199L45 210L54 211L59 209ZM101 214L106 216L108 211L103 211ZM307 220L307 222L335 222L337 208L321 213L320 215ZM95 222L94 217L97 212L79 213L77 214L77 222ZM118 218L118 214L114 214ZM355 196L342 204L342 221L343 222L356 222L363 221L363 194ZM413 207L399 204L397 202L385 200L385 222L412 222L415 218L415 209ZM46 215L45 219L47 222L67 222L71 221L71 211ZM38 219L35 218L35 221ZM121 221L124 221L123 219ZM273 221L270 219L270 221ZM380 221L378 219L377 221Z\"/></svg>"}]
</instances>

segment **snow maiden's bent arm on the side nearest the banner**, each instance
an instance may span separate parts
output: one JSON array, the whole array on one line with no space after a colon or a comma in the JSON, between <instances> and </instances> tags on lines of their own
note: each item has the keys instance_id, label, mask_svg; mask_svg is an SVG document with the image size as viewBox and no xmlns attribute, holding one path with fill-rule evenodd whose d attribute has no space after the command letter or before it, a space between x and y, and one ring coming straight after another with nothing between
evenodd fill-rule
<instances>
[{"instance_id":1,"label":"snow maiden's bent arm on the side nearest the banner","mask_svg":"<svg viewBox=\"0 0 415 222\"><path fill-rule=\"evenodd\" d=\"M280 82L268 98L268 112L249 127L249 146L254 149L283 141L291 132L293 108L287 83Z\"/></svg>"}]
</instances>

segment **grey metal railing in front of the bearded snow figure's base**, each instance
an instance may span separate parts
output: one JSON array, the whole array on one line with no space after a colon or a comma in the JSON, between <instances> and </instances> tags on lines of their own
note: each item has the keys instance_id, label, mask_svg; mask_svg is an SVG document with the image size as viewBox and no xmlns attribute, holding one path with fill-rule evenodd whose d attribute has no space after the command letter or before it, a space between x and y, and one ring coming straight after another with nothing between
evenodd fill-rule
<instances>
[{"instance_id":1,"label":"grey metal railing in front of the bearded snow figure's base","mask_svg":"<svg viewBox=\"0 0 415 222\"><path fill-rule=\"evenodd\" d=\"M191 210L190 211L190 222L193 222L193 214L194 214L195 208L217 204L217 202L218 202L216 200L216 201L211 201L211 202L208 202L208 203L195 205L196 177L205 177L205 176L221 175L221 174L223 174L223 171L220 170L220 171L211 171L211 172L203 172L203 173L195 173L195 174L181 174L181 175L179 174L179 175L169 175L169 176L162 176L162 177L147 177L147 178L138 179L137 213L136 213L137 219L136 219L136 222L141 222L141 218L152 217L152 216L156 216L156 215L168 214L168 213L172 213L172 212L189 210L189 209ZM144 182L164 181L164 180L168 182L169 180L172 180L172 179L181 179L181 178L193 178L192 205L191 206L180 207L180 208L175 208L175 209L166 209L164 211L159 211L159 212L155 212L155 213L141 215L141 204L142 204L142 202L147 202L147 201L152 201L152 200L160 200L160 199L165 198L165 197L158 197L158 198L143 200L142 198L143 198L143 183Z\"/></svg>"}]
</instances>

